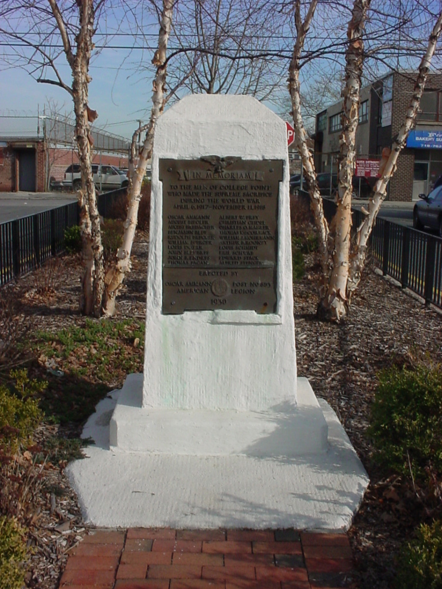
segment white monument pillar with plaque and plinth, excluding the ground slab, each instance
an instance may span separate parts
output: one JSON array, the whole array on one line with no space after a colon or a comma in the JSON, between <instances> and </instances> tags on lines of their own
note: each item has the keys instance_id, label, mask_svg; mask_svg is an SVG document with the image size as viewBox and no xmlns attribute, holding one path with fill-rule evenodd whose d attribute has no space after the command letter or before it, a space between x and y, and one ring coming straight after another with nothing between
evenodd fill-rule
<instances>
[{"instance_id":1,"label":"white monument pillar with plaque and plinth, excluding the ground slab","mask_svg":"<svg viewBox=\"0 0 442 589\"><path fill-rule=\"evenodd\" d=\"M327 432L296 376L285 123L248 96L183 98L155 131L144 375L110 445L296 456Z\"/></svg>"}]
</instances>

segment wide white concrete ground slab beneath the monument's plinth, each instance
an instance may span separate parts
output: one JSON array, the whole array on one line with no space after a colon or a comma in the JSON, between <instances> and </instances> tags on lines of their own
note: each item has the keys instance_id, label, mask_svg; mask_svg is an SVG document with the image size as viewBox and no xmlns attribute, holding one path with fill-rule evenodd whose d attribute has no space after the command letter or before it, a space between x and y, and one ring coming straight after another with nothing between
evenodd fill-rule
<instances>
[{"instance_id":1,"label":"wide white concrete ground slab beneath the monument's plinth","mask_svg":"<svg viewBox=\"0 0 442 589\"><path fill-rule=\"evenodd\" d=\"M89 524L256 530L351 525L368 476L322 399L326 452L258 458L113 451L109 425L120 394L114 391L98 404L83 431L95 445L66 471Z\"/></svg>"}]
</instances>

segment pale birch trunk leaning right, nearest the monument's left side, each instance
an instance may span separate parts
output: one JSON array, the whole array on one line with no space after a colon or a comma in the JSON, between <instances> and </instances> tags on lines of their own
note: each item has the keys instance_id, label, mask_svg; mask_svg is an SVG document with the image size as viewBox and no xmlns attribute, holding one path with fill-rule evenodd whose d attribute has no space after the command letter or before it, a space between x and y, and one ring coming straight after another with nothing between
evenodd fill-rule
<instances>
[{"instance_id":1,"label":"pale birch trunk leaning right, nearest the monument's left side","mask_svg":"<svg viewBox=\"0 0 442 589\"><path fill-rule=\"evenodd\" d=\"M160 33L158 38L158 49L152 60L157 66L156 77L153 82L153 107L150 114L150 121L141 130L147 129L146 139L144 140L143 149L139 155L137 167L131 163L130 167L130 194L127 219L124 223L123 243L117 252L117 261L108 270L105 276L105 290L103 297L103 313L105 316L113 316L115 313L115 301L118 291L123 286L123 280L127 272L130 272L130 254L134 241L137 227L138 204L140 203L141 183L146 173L147 160L151 157L153 135L157 118L162 114L164 109L164 87L166 84L166 51L167 42L170 35L173 0L163 0L163 14L160 23ZM136 136L140 130L134 133L131 146L131 159L135 151L134 145Z\"/></svg>"}]
</instances>

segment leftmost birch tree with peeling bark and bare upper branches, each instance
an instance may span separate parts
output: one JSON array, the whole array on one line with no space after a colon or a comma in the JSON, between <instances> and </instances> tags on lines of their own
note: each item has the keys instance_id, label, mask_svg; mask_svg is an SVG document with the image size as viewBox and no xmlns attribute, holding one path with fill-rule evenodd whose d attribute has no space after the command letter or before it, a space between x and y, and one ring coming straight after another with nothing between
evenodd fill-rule
<instances>
[{"instance_id":1,"label":"leftmost birch tree with peeling bark and bare upper branches","mask_svg":"<svg viewBox=\"0 0 442 589\"><path fill-rule=\"evenodd\" d=\"M101 315L104 288L103 247L101 246L100 216L97 209L92 174L91 123L97 117L89 106L88 92L91 76L89 62L94 49L95 16L104 0L8 0L2 10L7 19L27 23L29 35L0 28L9 39L19 41L24 53L18 54L28 72L42 84L52 84L70 94L75 114L75 140L81 169L80 228L83 261L80 310L85 315ZM61 39L62 54L70 68L70 83L62 79L57 42ZM17 52L19 49L17 49ZM21 61L20 61L21 60Z\"/></svg>"}]
</instances>

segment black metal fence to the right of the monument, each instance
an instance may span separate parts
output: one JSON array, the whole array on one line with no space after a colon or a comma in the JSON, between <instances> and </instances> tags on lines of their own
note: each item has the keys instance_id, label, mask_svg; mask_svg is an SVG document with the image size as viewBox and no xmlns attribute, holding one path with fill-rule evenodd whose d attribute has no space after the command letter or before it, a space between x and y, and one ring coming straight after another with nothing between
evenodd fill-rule
<instances>
[{"instance_id":1,"label":"black metal fence to the right of the monument","mask_svg":"<svg viewBox=\"0 0 442 589\"><path fill-rule=\"evenodd\" d=\"M324 214L329 220L336 206L323 199ZM364 214L352 210L353 227L358 227ZM383 274L442 308L442 239L423 231L377 217L370 236L372 261Z\"/></svg>"}]
</instances>

